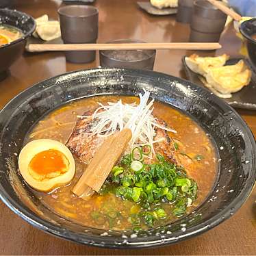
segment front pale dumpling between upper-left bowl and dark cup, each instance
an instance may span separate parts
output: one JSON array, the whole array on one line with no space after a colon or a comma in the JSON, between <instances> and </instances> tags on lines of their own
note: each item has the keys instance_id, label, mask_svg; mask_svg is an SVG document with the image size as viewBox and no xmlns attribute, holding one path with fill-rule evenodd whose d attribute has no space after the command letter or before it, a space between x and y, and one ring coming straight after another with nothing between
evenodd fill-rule
<instances>
[{"instance_id":1,"label":"front pale dumpling between upper-left bowl and dark cup","mask_svg":"<svg viewBox=\"0 0 256 256\"><path fill-rule=\"evenodd\" d=\"M48 21L37 27L38 36L44 41L50 41L61 36L60 23L58 21Z\"/></svg>"}]
</instances>

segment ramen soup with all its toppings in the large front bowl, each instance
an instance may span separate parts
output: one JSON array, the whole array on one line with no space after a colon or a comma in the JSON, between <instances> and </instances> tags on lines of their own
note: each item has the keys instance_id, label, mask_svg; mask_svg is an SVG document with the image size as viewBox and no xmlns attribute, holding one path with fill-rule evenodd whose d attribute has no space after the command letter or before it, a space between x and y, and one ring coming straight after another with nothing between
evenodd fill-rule
<instances>
[{"instance_id":1,"label":"ramen soup with all its toppings in the large front bowl","mask_svg":"<svg viewBox=\"0 0 256 256\"><path fill-rule=\"evenodd\" d=\"M86 227L170 224L201 205L216 179L216 151L205 131L147 92L72 101L40 120L26 143L19 166L33 193Z\"/></svg>"}]
</instances>

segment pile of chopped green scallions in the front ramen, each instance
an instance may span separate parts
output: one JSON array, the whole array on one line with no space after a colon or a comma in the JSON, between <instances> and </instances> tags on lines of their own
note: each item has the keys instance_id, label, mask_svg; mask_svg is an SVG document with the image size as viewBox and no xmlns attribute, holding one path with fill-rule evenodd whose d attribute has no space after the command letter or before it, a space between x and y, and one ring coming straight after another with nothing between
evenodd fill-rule
<instances>
[{"instance_id":1,"label":"pile of chopped green scallions in the front ramen","mask_svg":"<svg viewBox=\"0 0 256 256\"><path fill-rule=\"evenodd\" d=\"M140 205L140 211L129 218L133 226L142 221L153 227L159 218L167 218L164 209L159 208L162 202L170 203L172 214L179 217L196 199L196 181L181 166L167 162L163 155L157 154L153 164L144 164L142 148L136 147L131 154L123 156L120 165L114 166L111 180L104 186L115 183L111 191L116 196Z\"/></svg>"}]
</instances>

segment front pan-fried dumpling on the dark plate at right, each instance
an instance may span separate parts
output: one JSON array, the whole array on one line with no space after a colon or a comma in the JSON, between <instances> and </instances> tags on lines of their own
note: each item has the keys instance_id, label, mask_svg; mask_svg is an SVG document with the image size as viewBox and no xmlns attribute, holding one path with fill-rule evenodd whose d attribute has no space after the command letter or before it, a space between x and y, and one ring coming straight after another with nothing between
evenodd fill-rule
<instances>
[{"instance_id":1,"label":"front pan-fried dumpling on the dark plate at right","mask_svg":"<svg viewBox=\"0 0 256 256\"><path fill-rule=\"evenodd\" d=\"M206 75L207 84L222 94L238 92L251 81L251 70L240 60L235 65L210 68Z\"/></svg>"}]
</instances>

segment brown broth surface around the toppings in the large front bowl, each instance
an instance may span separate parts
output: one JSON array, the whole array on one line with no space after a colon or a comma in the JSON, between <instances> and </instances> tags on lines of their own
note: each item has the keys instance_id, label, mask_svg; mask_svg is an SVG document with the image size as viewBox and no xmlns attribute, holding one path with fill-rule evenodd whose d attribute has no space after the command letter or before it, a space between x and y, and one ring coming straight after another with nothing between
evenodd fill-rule
<instances>
[{"instance_id":1,"label":"brown broth surface around the toppings in the large front bowl","mask_svg":"<svg viewBox=\"0 0 256 256\"><path fill-rule=\"evenodd\" d=\"M106 104L122 99L123 103L138 103L137 97L99 96L73 101L48 114L29 133L28 140L49 138L66 143L77 120L77 115L98 107L97 102ZM154 116L161 118L167 125L173 127L177 133L170 136L179 145L180 157L188 175L197 182L198 196L192 207L188 207L187 214L200 205L212 189L216 178L216 153L212 142L203 129L188 116L163 103L154 103ZM85 164L75 159L76 175L66 186L55 189L48 194L36 192L34 194L42 203L56 214L80 225L97 229L125 230L132 229L129 221L131 214L136 214L140 207L132 201L116 197L114 194L99 195L95 193L90 199L79 199L71 193L71 188L84 172ZM187 164L186 164L187 163ZM167 213L167 218L156 220L154 227L168 224L177 220L170 212L170 203L159 203ZM142 228L147 227L142 225Z\"/></svg>"}]
</instances>

